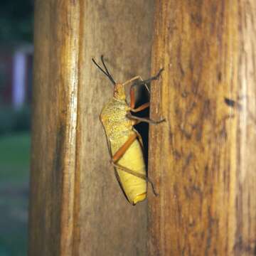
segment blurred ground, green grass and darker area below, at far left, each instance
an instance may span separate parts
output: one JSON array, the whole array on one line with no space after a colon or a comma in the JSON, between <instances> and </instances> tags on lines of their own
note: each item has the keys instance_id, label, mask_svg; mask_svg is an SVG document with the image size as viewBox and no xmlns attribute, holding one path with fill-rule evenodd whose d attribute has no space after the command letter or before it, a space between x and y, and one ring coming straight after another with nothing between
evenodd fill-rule
<instances>
[{"instance_id":1,"label":"blurred ground, green grass and darker area below, at far left","mask_svg":"<svg viewBox=\"0 0 256 256\"><path fill-rule=\"evenodd\" d=\"M0 137L0 256L27 255L29 132Z\"/></svg>"}]
</instances>

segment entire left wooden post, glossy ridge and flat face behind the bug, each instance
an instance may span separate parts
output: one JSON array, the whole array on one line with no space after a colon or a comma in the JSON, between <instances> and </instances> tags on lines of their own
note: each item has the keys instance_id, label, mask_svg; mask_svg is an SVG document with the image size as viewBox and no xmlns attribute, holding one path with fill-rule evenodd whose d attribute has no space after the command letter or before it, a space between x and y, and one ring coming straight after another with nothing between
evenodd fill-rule
<instances>
[{"instance_id":1,"label":"entire left wooden post, glossy ridge and flat face behind the bug","mask_svg":"<svg viewBox=\"0 0 256 256\"><path fill-rule=\"evenodd\" d=\"M38 0L29 255L146 255L146 202L114 177L99 120L112 85L149 76L153 1Z\"/></svg>"}]
</instances>

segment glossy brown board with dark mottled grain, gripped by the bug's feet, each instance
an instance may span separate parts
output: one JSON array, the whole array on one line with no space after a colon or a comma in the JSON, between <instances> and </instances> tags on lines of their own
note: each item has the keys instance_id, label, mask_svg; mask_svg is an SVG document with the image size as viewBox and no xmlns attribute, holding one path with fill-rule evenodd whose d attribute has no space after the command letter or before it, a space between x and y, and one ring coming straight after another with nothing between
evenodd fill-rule
<instances>
[{"instance_id":1,"label":"glossy brown board with dark mottled grain, gripped by the bug's feet","mask_svg":"<svg viewBox=\"0 0 256 256\"><path fill-rule=\"evenodd\" d=\"M255 255L256 2L155 10L149 255Z\"/></svg>"}]
</instances>

